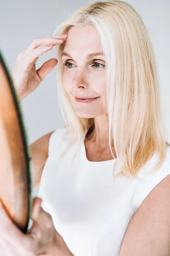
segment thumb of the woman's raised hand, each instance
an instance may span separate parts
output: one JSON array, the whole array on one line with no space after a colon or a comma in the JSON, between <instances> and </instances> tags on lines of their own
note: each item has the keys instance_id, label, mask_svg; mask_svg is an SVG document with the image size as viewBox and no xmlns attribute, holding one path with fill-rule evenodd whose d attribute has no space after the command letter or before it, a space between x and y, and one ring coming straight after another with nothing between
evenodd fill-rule
<instances>
[{"instance_id":1,"label":"thumb of the woman's raised hand","mask_svg":"<svg viewBox=\"0 0 170 256\"><path fill-rule=\"evenodd\" d=\"M38 70L37 73L41 79L41 81L45 78L45 76L51 72L51 70L56 66L57 59L52 58L46 61Z\"/></svg>"}]
</instances>

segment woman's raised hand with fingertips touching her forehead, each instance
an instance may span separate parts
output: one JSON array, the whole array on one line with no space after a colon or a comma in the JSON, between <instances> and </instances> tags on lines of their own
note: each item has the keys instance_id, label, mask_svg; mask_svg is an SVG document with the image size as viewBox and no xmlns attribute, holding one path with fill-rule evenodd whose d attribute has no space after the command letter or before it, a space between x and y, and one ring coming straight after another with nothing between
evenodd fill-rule
<instances>
[{"instance_id":1,"label":"woman's raised hand with fingertips touching her forehead","mask_svg":"<svg viewBox=\"0 0 170 256\"><path fill-rule=\"evenodd\" d=\"M39 56L51 50L54 45L62 44L67 37L67 34L63 34L36 38L27 49L19 53L11 78L20 102L39 86L58 62L51 58L36 70L35 63Z\"/></svg>"}]
</instances>

